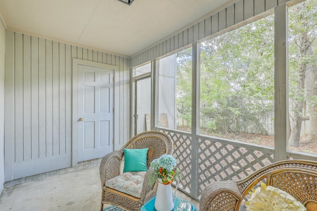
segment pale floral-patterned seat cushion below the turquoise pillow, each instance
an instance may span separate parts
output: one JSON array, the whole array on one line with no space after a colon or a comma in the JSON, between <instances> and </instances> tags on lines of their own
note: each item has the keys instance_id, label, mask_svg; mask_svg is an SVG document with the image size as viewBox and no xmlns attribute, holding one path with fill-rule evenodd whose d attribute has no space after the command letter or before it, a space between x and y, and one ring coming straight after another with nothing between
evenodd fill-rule
<instances>
[{"instance_id":1,"label":"pale floral-patterned seat cushion below the turquoise pillow","mask_svg":"<svg viewBox=\"0 0 317 211\"><path fill-rule=\"evenodd\" d=\"M106 187L141 198L146 171L127 171L106 181Z\"/></svg>"}]
</instances>

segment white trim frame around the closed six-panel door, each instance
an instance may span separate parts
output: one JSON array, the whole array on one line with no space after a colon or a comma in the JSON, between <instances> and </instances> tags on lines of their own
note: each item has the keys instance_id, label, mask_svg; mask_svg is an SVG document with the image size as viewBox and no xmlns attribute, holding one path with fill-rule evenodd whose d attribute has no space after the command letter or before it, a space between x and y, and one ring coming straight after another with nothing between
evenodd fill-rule
<instances>
[{"instance_id":1,"label":"white trim frame around the closed six-panel door","mask_svg":"<svg viewBox=\"0 0 317 211\"><path fill-rule=\"evenodd\" d=\"M119 73L119 67L111 64L104 64L104 63L98 63L94 61L87 61L87 60L82 60L78 58L72 58L72 116L71 116L71 122L72 122L72 138L71 138L71 143L72 143L72 166L76 166L78 163L78 65L85 65L85 66L92 66L92 67L100 67L100 68L105 68L105 69L110 69L114 70L114 78L115 80L118 77ZM113 94L114 96L119 93L119 89L117 86L115 86L115 81L114 81L114 89L113 89ZM116 101L114 100L114 108L117 107ZM118 134L115 133L114 130L114 125L115 125L115 120L118 119L117 112L113 113L113 138L114 140L118 140ZM114 144L113 144L113 149L114 149Z\"/></svg>"}]
</instances>

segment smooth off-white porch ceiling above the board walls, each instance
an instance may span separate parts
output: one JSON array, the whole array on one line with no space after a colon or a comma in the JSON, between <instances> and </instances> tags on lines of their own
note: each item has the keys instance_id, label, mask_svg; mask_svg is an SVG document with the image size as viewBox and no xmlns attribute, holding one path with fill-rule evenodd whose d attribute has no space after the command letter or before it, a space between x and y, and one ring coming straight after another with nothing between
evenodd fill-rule
<instances>
[{"instance_id":1,"label":"smooth off-white porch ceiling above the board walls","mask_svg":"<svg viewBox=\"0 0 317 211\"><path fill-rule=\"evenodd\" d=\"M9 30L133 56L232 0L0 0Z\"/></svg>"}]
</instances>

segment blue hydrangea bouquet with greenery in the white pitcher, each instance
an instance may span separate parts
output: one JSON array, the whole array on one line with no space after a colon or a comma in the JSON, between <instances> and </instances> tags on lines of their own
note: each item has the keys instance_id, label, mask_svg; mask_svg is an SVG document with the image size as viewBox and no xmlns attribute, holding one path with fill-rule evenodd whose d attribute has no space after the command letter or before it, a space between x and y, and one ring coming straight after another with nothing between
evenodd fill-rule
<instances>
[{"instance_id":1,"label":"blue hydrangea bouquet with greenery in the white pitcher","mask_svg":"<svg viewBox=\"0 0 317 211\"><path fill-rule=\"evenodd\" d=\"M174 177L181 178L181 172L175 167L176 159L172 155L162 155L151 162L150 169L154 171L150 174L150 186L152 186L158 178L162 179L165 185L171 184Z\"/></svg>"}]
</instances>

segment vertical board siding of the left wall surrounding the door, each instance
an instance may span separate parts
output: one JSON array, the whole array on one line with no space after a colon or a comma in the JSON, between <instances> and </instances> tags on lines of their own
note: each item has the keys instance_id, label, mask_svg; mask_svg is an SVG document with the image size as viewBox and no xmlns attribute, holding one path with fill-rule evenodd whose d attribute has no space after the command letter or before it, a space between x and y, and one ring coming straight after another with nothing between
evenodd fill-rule
<instances>
[{"instance_id":1,"label":"vertical board siding of the left wall surrounding the door","mask_svg":"<svg viewBox=\"0 0 317 211\"><path fill-rule=\"evenodd\" d=\"M129 58L9 31L6 46L6 181L71 166L72 58L119 66L116 142L128 141Z\"/></svg>"}]
</instances>

